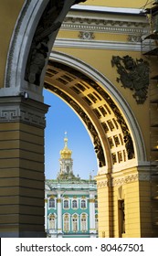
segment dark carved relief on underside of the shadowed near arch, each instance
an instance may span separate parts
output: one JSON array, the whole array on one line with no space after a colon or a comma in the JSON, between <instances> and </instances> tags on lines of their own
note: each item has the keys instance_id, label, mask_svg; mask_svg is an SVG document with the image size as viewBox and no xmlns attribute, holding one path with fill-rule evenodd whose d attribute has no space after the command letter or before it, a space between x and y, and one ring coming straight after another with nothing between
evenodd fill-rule
<instances>
[{"instance_id":1,"label":"dark carved relief on underside of the shadowed near arch","mask_svg":"<svg viewBox=\"0 0 158 256\"><path fill-rule=\"evenodd\" d=\"M85 1L76 0L74 5ZM64 0L49 0L38 22L26 62L25 80L31 84L40 85L40 76L47 60L49 37L61 26L61 22L56 20L64 3Z\"/></svg>"}]
</instances>

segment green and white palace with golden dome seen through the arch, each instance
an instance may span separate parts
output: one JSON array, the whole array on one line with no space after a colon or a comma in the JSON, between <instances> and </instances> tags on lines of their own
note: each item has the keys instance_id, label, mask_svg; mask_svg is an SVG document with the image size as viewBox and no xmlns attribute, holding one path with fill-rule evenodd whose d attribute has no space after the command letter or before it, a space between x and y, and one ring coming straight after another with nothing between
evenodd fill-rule
<instances>
[{"instance_id":1,"label":"green and white palace with golden dome seen through the arch","mask_svg":"<svg viewBox=\"0 0 158 256\"><path fill-rule=\"evenodd\" d=\"M72 151L68 138L60 151L57 179L46 180L45 229L47 237L98 237L98 199L96 181L73 174Z\"/></svg>"}]
</instances>

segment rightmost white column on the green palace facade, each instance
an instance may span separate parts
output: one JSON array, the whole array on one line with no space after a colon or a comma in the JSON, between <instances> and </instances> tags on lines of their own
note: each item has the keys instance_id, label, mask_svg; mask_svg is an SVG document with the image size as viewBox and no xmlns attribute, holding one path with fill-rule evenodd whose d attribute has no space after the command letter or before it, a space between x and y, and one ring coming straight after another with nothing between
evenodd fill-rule
<instances>
[{"instance_id":1,"label":"rightmost white column on the green palace facade","mask_svg":"<svg viewBox=\"0 0 158 256\"><path fill-rule=\"evenodd\" d=\"M90 193L90 237L95 237L95 197L93 193Z\"/></svg>"}]
</instances>

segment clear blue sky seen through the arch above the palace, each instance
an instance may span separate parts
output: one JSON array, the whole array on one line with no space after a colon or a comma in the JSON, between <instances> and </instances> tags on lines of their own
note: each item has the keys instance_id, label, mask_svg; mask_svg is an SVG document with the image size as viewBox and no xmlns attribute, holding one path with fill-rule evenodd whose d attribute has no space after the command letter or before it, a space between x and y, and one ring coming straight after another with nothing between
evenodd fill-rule
<instances>
[{"instance_id":1,"label":"clear blue sky seen through the arch above the palace","mask_svg":"<svg viewBox=\"0 0 158 256\"><path fill-rule=\"evenodd\" d=\"M97 175L97 159L89 133L78 115L58 96L44 90L44 101L50 105L45 130L45 176L56 178L59 171L59 151L64 147L65 132L72 150L74 175L89 178Z\"/></svg>"}]
</instances>

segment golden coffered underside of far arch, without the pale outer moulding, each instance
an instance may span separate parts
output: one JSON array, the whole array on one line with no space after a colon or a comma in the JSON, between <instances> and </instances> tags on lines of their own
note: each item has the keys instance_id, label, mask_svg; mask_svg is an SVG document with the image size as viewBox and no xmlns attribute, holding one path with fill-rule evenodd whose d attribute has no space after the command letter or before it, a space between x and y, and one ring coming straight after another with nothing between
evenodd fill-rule
<instances>
[{"instance_id":1,"label":"golden coffered underside of far arch, without the pale outer moulding","mask_svg":"<svg viewBox=\"0 0 158 256\"><path fill-rule=\"evenodd\" d=\"M90 134L100 172L111 173L135 165L129 126L98 81L79 69L49 59L44 87L78 114Z\"/></svg>"}]
</instances>

